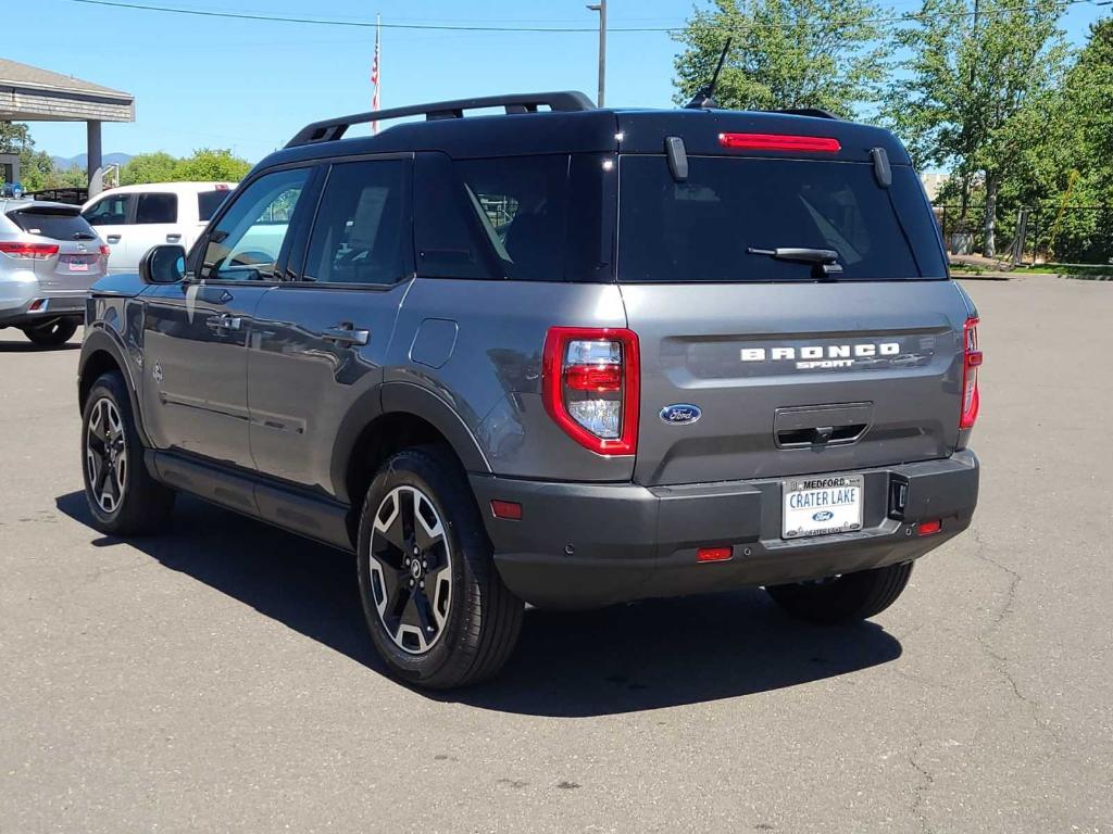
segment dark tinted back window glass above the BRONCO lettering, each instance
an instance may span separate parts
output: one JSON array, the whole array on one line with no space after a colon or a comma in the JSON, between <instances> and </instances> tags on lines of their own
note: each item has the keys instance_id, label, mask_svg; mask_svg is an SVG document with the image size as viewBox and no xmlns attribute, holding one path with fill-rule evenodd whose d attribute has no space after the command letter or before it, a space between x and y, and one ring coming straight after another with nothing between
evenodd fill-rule
<instances>
[{"instance_id":1,"label":"dark tinted back window glass above the BRONCO lettering","mask_svg":"<svg viewBox=\"0 0 1113 834\"><path fill-rule=\"evenodd\" d=\"M664 157L620 161L619 280L809 280L816 267L750 249L838 252L839 280L945 278L935 220L914 171L796 159L689 157L677 182Z\"/></svg>"}]
</instances>

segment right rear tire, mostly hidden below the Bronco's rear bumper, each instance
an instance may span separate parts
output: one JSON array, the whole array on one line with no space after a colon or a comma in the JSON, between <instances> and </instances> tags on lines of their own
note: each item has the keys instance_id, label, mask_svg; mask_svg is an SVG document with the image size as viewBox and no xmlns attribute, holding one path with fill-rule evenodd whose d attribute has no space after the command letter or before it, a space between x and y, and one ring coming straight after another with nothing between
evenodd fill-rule
<instances>
[{"instance_id":1,"label":"right rear tire, mostly hidden below the Bronco's rear bumper","mask_svg":"<svg viewBox=\"0 0 1113 834\"><path fill-rule=\"evenodd\" d=\"M781 608L812 623L850 623L880 614L896 602L912 576L912 563L844 574L818 583L766 588Z\"/></svg>"}]
</instances>

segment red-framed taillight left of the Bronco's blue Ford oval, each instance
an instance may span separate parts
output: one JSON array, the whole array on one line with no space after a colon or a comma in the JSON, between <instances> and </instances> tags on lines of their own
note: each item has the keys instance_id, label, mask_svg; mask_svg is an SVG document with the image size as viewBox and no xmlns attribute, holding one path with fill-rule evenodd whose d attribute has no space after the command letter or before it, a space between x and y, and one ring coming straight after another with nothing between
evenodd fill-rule
<instances>
[{"instance_id":1,"label":"red-framed taillight left of the Bronco's blue Ford oval","mask_svg":"<svg viewBox=\"0 0 1113 834\"><path fill-rule=\"evenodd\" d=\"M570 437L600 455L638 448L638 335L618 328L553 327L545 336L542 399Z\"/></svg>"}]
</instances>

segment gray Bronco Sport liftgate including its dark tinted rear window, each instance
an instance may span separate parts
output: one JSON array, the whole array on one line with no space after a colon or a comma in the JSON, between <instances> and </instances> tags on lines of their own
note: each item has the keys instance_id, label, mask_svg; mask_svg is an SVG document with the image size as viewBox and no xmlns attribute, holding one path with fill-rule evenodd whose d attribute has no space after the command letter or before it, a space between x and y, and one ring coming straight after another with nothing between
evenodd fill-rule
<instances>
[{"instance_id":1,"label":"gray Bronco Sport liftgate including its dark tinted rear window","mask_svg":"<svg viewBox=\"0 0 1113 834\"><path fill-rule=\"evenodd\" d=\"M636 481L954 451L965 299L903 150L878 160L868 141L848 145L689 150L687 177L676 157L620 157L618 276L641 346ZM770 254L788 248L828 255Z\"/></svg>"}]
</instances>

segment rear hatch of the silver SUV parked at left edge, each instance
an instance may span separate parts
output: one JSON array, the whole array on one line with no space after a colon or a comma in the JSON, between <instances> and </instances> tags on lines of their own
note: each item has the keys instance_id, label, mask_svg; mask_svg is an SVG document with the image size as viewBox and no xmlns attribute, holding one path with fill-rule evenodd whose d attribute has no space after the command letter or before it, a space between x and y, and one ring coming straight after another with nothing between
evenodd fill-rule
<instances>
[{"instance_id":1,"label":"rear hatch of the silver SUV parked at left edge","mask_svg":"<svg viewBox=\"0 0 1113 834\"><path fill-rule=\"evenodd\" d=\"M83 296L106 271L101 241L78 206L29 203L8 218L47 247L35 259L39 288L49 296Z\"/></svg>"}]
</instances>

